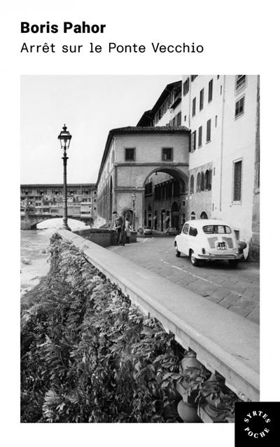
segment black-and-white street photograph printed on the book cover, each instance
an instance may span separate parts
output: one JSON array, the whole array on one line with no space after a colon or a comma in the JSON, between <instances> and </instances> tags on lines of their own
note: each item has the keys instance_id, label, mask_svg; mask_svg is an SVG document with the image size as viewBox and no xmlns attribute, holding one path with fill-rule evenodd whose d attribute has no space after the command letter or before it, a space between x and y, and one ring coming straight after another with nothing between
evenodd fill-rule
<instances>
[{"instance_id":1,"label":"black-and-white street photograph printed on the book cover","mask_svg":"<svg viewBox=\"0 0 280 447\"><path fill-rule=\"evenodd\" d=\"M21 76L21 422L260 399L260 76Z\"/></svg>"}]
</instances>

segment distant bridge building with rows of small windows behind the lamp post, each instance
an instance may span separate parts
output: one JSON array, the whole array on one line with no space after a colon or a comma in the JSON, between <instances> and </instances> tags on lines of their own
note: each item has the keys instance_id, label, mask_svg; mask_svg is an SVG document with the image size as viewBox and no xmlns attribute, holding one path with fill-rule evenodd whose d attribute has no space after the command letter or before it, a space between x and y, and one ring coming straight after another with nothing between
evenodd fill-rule
<instances>
[{"instance_id":1,"label":"distant bridge building with rows of small windows behind the lamp post","mask_svg":"<svg viewBox=\"0 0 280 447\"><path fill-rule=\"evenodd\" d=\"M96 217L97 190L95 184L68 184L68 217L92 224ZM22 228L40 221L63 216L62 184L22 184L20 186L20 215Z\"/></svg>"}]
</instances>

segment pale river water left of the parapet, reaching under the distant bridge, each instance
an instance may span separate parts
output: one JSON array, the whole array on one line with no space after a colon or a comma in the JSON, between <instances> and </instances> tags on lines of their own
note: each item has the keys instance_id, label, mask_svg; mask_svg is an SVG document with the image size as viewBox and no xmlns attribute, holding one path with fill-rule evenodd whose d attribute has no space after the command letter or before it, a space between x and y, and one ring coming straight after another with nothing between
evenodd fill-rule
<instances>
[{"instance_id":1,"label":"pale river water left of the parapet, reaching under the distant bridge","mask_svg":"<svg viewBox=\"0 0 280 447\"><path fill-rule=\"evenodd\" d=\"M72 230L88 228L83 222L69 219ZM20 231L20 295L32 289L41 277L48 273L48 246L55 229L61 226L62 219L50 219L38 224L38 230Z\"/></svg>"}]
</instances>

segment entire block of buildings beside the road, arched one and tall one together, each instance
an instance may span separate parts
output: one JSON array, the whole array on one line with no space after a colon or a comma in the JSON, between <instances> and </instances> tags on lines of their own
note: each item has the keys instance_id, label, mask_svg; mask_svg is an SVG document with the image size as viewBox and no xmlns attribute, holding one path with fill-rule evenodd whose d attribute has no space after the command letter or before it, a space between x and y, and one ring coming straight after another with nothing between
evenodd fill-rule
<instances>
[{"instance_id":1,"label":"entire block of buildings beside the road, arched one and tall one together","mask_svg":"<svg viewBox=\"0 0 280 447\"><path fill-rule=\"evenodd\" d=\"M136 188L138 226L180 230L188 219L225 219L258 258L259 98L257 75L184 75L168 84L134 132L113 135L106 146L98 214L110 220L113 208L131 213ZM180 129L184 143L173 151ZM172 170L182 162L183 177Z\"/></svg>"}]
</instances>

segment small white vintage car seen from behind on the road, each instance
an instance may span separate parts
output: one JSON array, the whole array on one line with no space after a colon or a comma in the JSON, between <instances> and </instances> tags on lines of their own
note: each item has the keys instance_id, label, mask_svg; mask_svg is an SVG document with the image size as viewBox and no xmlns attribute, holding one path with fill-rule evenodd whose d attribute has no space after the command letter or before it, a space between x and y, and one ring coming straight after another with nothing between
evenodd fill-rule
<instances>
[{"instance_id":1,"label":"small white vintage car seen from behind on the road","mask_svg":"<svg viewBox=\"0 0 280 447\"><path fill-rule=\"evenodd\" d=\"M193 266L202 261L227 260L235 267L243 257L232 227L218 219L187 221L175 238L174 248L176 256L189 256Z\"/></svg>"}]
</instances>

